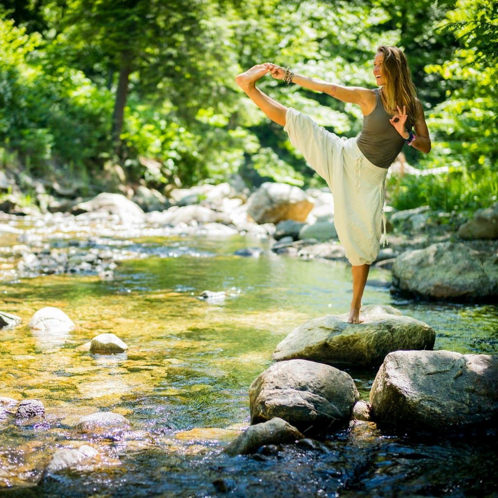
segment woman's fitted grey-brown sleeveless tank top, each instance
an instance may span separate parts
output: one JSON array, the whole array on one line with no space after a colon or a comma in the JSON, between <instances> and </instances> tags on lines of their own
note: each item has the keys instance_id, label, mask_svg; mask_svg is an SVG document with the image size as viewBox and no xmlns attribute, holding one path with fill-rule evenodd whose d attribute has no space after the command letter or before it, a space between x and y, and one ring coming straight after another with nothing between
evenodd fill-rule
<instances>
[{"instance_id":1,"label":"woman's fitted grey-brown sleeveless tank top","mask_svg":"<svg viewBox=\"0 0 498 498\"><path fill-rule=\"evenodd\" d=\"M363 155L375 166L388 168L401 152L405 141L389 123L391 116L382 105L380 90L375 88L375 109L363 118L363 127L357 143ZM409 123L406 128L410 129Z\"/></svg>"}]
</instances>

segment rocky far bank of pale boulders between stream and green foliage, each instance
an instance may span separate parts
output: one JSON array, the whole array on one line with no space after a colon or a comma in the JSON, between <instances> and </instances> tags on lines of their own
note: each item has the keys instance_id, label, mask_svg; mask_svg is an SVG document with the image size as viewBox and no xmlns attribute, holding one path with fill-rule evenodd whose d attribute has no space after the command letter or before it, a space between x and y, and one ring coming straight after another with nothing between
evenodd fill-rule
<instances>
[{"instance_id":1,"label":"rocky far bank of pale boulders between stream and green foliage","mask_svg":"<svg viewBox=\"0 0 498 498\"><path fill-rule=\"evenodd\" d=\"M14 279L37 272L94 271L109 276L116 260L137 257L132 252L99 251L98 241L92 235L96 231L105 238L138 233L149 237L239 234L265 239L275 253L282 255L346 260L333 225L332 196L326 191L311 189L304 192L285 184L266 183L250 193L241 182L234 182L172 190L168 199L142 188L133 199L136 202L121 194L103 193L86 201L75 199L66 206L66 211L42 213L14 207L9 209L10 213L0 212L3 274L6 276L10 272ZM60 203L56 205L60 207ZM416 271L401 268L395 269L393 291L429 299L494 300L498 295L497 206L483 210L486 216L480 216L478 212L471 220L462 214L431 212L425 207L401 212L387 207L387 236L374 264L391 269L403 252L446 244L444 251L453 254L439 265L450 281L455 278L451 274L452 267L459 266L462 249L466 248L469 259L480 261L480 267L476 268L472 261L466 268L459 267L456 275L461 273L462 281L456 285L456 290L450 289L446 294L437 290L453 285L444 281L444 275L432 283L432 289L426 290L411 286L409 281L400 282L403 271ZM85 234L88 237L78 242L73 240L69 249L64 248L63 242L59 242L58 247L57 244L50 246L50 232L54 230L66 233L67 237L74 234L82 239ZM7 249L9 243L11 249ZM431 263L429 274L434 273L436 263ZM474 286L467 287L465 282L476 271L482 273L480 279Z\"/></svg>"}]
</instances>

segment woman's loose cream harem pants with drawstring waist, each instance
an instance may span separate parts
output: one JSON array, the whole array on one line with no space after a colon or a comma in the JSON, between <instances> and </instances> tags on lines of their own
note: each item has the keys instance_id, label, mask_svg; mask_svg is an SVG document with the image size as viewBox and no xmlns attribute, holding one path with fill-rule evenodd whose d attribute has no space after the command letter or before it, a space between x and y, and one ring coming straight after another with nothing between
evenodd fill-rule
<instances>
[{"instance_id":1,"label":"woman's loose cream harem pants with drawstring waist","mask_svg":"<svg viewBox=\"0 0 498 498\"><path fill-rule=\"evenodd\" d=\"M387 169L372 164L356 138L339 137L295 109L287 110L284 130L332 192L334 225L350 263L373 263L382 236Z\"/></svg>"}]
</instances>

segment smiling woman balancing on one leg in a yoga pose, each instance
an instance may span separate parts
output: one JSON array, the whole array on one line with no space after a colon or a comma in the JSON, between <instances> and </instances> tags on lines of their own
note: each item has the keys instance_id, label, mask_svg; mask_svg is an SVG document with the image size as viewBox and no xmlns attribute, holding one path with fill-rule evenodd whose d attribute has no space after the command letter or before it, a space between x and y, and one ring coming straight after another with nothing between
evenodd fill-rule
<instances>
[{"instance_id":1,"label":"smiling woman balancing on one leg in a yoga pose","mask_svg":"<svg viewBox=\"0 0 498 498\"><path fill-rule=\"evenodd\" d=\"M268 97L256 87L256 81L267 73L287 84L325 92L342 102L359 105L364 116L361 134L355 138L339 137L308 116ZM256 106L284 126L291 143L332 191L334 224L352 264L350 323L362 321L363 291L370 265L379 251L387 168L405 143L425 153L431 149L405 54L397 47L378 47L373 75L378 86L374 90L329 83L271 63L258 64L236 77L237 84Z\"/></svg>"}]
</instances>

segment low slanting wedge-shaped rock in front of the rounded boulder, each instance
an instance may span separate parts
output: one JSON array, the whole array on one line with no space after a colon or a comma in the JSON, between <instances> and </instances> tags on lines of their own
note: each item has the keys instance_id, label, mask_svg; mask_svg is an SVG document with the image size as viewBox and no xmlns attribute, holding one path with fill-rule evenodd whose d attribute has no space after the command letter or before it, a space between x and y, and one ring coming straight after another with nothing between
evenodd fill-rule
<instances>
[{"instance_id":1,"label":"low slanting wedge-shaped rock in front of the rounded boulder","mask_svg":"<svg viewBox=\"0 0 498 498\"><path fill-rule=\"evenodd\" d=\"M249 455L268 444L294 443L304 436L281 418L251 425L225 449L230 456Z\"/></svg>"}]
</instances>

